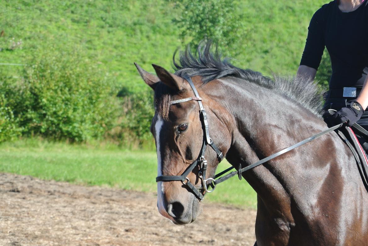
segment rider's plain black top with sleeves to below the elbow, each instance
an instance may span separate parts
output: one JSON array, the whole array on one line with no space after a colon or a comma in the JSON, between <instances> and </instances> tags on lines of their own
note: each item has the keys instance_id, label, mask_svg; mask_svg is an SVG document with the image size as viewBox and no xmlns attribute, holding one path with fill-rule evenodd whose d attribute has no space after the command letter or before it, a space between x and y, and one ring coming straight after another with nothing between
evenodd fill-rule
<instances>
[{"instance_id":1,"label":"rider's plain black top with sleeves to below the elbow","mask_svg":"<svg viewBox=\"0 0 368 246\"><path fill-rule=\"evenodd\" d=\"M300 65L318 69L326 46L332 65L330 89L363 86L368 67L367 3L365 0L356 10L344 13L334 0L311 19Z\"/></svg>"}]
</instances>

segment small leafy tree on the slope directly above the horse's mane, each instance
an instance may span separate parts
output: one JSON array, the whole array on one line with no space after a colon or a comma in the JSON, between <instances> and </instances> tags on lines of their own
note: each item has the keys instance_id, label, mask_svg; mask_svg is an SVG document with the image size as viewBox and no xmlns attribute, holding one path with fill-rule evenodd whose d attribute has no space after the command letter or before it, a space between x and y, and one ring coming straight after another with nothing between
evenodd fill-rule
<instances>
[{"instance_id":1,"label":"small leafy tree on the slope directly above the horse's mane","mask_svg":"<svg viewBox=\"0 0 368 246\"><path fill-rule=\"evenodd\" d=\"M183 0L176 2L176 8L181 11L173 19L173 23L181 30L182 43L192 38L191 45L196 46L201 40L212 40L223 52L232 49L248 31L244 15L234 10L238 9L234 0Z\"/></svg>"}]
</instances>

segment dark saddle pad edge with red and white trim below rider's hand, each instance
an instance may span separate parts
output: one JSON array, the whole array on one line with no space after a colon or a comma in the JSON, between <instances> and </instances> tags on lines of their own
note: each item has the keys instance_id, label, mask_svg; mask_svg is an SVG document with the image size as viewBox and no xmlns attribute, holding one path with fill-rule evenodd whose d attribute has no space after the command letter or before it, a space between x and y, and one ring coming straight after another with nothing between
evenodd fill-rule
<instances>
[{"instance_id":1,"label":"dark saddle pad edge with red and white trim below rider's hand","mask_svg":"<svg viewBox=\"0 0 368 246\"><path fill-rule=\"evenodd\" d=\"M353 146L352 149L351 146L347 144L350 147L351 151L353 151L355 159L357 160L357 165L362 177L362 181L365 185L365 188L368 190L368 160L366 153L360 145L357 136L355 136L354 131L350 127L346 126L345 129L342 128L342 132L344 133L350 144Z\"/></svg>"}]
</instances>

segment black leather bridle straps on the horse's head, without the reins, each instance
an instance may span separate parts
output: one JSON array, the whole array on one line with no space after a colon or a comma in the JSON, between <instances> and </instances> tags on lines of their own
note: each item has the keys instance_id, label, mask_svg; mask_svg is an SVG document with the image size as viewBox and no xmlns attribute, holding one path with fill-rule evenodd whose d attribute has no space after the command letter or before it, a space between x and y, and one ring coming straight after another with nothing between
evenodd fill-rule
<instances>
[{"instance_id":1,"label":"black leather bridle straps on the horse's head, without the reins","mask_svg":"<svg viewBox=\"0 0 368 246\"><path fill-rule=\"evenodd\" d=\"M212 149L216 151L217 159L219 160L219 162L224 159L224 155L219 150L219 148L217 148L215 143L212 141L212 138L210 138L210 136L209 136L207 113L206 113L206 110L203 107L202 98L199 97L199 94L197 92L197 89L195 89L195 86L194 86L194 83L193 83L192 79L188 76L183 76L183 78L185 80L187 80L189 85L191 86L191 88L194 92L194 97L188 97L188 98L185 98L185 99L170 101L170 105L171 104L184 103L186 101L191 101L191 100L194 100L194 101L198 102L198 105L199 105L199 118L201 120L202 129L203 129L203 142L202 142L201 151L199 151L198 158L195 161L193 161L192 164L190 164L189 167L187 169L185 169L185 171L181 175L176 175L176 176L161 175L161 176L156 177L156 182L159 182L159 181L163 181L163 182L181 181L183 183L183 185L187 185L188 188L194 193L194 195L200 201L202 201L204 197L202 195L201 190L204 190L205 192L212 192L215 189L215 186L212 186L213 187L212 190L207 189L207 182L210 181L212 183L212 182L215 181L215 179L213 179L213 178L206 179L207 160L205 159L205 151L207 149L207 145L211 146ZM195 186L190 182L189 178L187 177L190 174L190 172L197 166L199 166L199 178L202 181L202 186L199 189L195 188Z\"/></svg>"}]
</instances>

